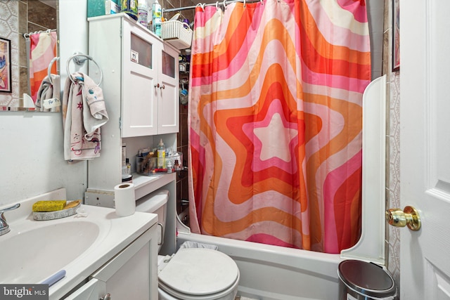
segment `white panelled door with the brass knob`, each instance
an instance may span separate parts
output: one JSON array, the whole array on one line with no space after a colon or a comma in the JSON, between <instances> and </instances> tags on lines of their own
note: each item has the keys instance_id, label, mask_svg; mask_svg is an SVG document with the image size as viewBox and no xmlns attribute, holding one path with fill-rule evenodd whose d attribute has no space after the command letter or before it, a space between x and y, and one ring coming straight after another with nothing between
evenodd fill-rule
<instances>
[{"instance_id":1,"label":"white panelled door with the brass knob","mask_svg":"<svg viewBox=\"0 0 450 300\"><path fill-rule=\"evenodd\" d=\"M402 300L450 299L450 1L400 0Z\"/></svg>"}]
</instances>

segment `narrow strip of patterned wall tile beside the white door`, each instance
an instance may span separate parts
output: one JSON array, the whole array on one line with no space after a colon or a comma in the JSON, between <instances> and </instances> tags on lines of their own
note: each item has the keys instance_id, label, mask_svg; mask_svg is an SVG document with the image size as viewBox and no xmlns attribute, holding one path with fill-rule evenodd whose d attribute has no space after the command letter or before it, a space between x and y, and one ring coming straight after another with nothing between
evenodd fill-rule
<instances>
[{"instance_id":1,"label":"narrow strip of patterned wall tile beside the white door","mask_svg":"<svg viewBox=\"0 0 450 300\"><path fill-rule=\"evenodd\" d=\"M400 207L400 72L392 72L392 1L385 0L383 74L387 75L386 208ZM387 268L400 286L400 232L387 226Z\"/></svg>"}]
</instances>

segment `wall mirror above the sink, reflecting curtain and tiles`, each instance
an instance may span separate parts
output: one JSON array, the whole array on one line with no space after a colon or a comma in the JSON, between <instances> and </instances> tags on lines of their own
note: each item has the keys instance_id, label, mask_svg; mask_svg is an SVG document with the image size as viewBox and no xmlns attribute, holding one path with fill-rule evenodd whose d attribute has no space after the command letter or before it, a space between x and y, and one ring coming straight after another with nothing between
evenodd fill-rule
<instances>
[{"instance_id":1,"label":"wall mirror above the sink, reflecting curtain and tiles","mask_svg":"<svg viewBox=\"0 0 450 300\"><path fill-rule=\"evenodd\" d=\"M45 59L43 58L41 61L39 61L38 55L32 58L32 67L30 67L30 58L29 54L27 54L30 53L30 50L27 47L29 49L37 49L36 53L42 53L41 56L44 57L44 53L47 51L46 47L51 47L49 46L51 44L37 44L38 36L34 35L32 41L30 37L32 34L47 33L53 39L53 43L56 43L56 46L53 48L56 48L56 53L59 53L58 0L0 1L0 11L4 12L0 14L0 23L6 25L2 26L0 31L0 41L9 41L9 49L5 58L6 67L8 67L8 64L10 67L9 72L8 70L1 72L0 77L2 80L5 79L5 84L11 86L9 90L0 89L0 112L41 111L39 107L35 107L34 102L36 102L37 98L36 91L40 87L41 81L39 81L39 77L44 73L48 74L50 63L47 62L49 61L49 53L46 53ZM4 47L4 49L6 48ZM3 58L3 55L1 57ZM58 70L60 70L60 67L56 58L51 62L51 65L51 74L59 74ZM32 70L31 76L30 70ZM34 74L36 74L37 82L34 82ZM60 84L57 84L57 81L58 79L54 82L54 86L58 85L57 91L54 91L55 95L59 93ZM33 87L34 100L31 91ZM52 93L52 91L46 92ZM60 107L49 110L42 109L42 111L58 112Z\"/></svg>"}]
</instances>

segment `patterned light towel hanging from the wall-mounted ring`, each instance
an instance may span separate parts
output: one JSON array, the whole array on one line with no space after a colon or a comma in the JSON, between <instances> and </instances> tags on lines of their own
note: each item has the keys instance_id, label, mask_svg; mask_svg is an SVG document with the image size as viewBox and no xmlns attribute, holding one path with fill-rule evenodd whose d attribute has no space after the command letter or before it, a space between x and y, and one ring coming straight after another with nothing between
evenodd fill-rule
<instances>
[{"instance_id":1,"label":"patterned light towel hanging from the wall-mounted ring","mask_svg":"<svg viewBox=\"0 0 450 300\"><path fill-rule=\"evenodd\" d=\"M106 122L108 112L102 89L86 74L70 74L63 93L64 159L99 157L101 126Z\"/></svg>"}]
</instances>

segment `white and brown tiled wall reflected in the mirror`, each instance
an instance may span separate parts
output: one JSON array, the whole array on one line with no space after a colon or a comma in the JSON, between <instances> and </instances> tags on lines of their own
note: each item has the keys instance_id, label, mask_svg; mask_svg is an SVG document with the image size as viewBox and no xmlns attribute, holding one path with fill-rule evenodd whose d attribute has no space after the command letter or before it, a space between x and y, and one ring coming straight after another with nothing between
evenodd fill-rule
<instances>
[{"instance_id":1,"label":"white and brown tiled wall reflected in the mirror","mask_svg":"<svg viewBox=\"0 0 450 300\"><path fill-rule=\"evenodd\" d=\"M56 29L57 9L36 0L0 1L0 37L11 39L13 93L0 93L0 105L17 106L28 93L27 56L23 34Z\"/></svg>"}]
</instances>

